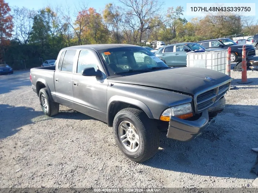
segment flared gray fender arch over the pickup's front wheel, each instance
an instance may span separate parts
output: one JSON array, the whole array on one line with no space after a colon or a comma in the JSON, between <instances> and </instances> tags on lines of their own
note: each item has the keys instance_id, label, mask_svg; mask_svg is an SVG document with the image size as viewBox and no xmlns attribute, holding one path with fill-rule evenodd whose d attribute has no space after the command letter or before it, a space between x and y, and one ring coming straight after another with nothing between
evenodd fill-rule
<instances>
[{"instance_id":1,"label":"flared gray fender arch over the pickup's front wheel","mask_svg":"<svg viewBox=\"0 0 258 193\"><path fill-rule=\"evenodd\" d=\"M107 103L107 125L112 127L114 117L118 111L128 107L140 109L144 111L150 119L154 119L151 110L143 102L124 96L113 96Z\"/></svg>"}]
</instances>

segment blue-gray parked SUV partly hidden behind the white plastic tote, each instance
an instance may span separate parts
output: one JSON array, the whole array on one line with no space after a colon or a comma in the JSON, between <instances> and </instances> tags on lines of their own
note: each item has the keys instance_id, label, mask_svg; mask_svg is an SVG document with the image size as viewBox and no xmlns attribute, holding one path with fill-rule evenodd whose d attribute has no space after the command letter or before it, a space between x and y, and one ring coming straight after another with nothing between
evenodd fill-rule
<instances>
[{"instance_id":1,"label":"blue-gray parked SUV partly hidden behind the white plastic tote","mask_svg":"<svg viewBox=\"0 0 258 193\"><path fill-rule=\"evenodd\" d=\"M194 50L203 49L205 51L213 51L218 49L205 49L203 46L185 42L185 43L178 43L178 44L171 44L159 48L158 51L155 53L164 63L168 66L173 67L182 67L186 66L186 53L191 52Z\"/></svg>"}]
</instances>

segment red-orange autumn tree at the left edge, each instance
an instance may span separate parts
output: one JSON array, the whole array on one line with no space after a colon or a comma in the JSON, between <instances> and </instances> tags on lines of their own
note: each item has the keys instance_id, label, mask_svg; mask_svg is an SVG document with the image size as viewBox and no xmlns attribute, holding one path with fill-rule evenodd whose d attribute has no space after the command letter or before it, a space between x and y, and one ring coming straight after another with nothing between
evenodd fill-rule
<instances>
[{"instance_id":1,"label":"red-orange autumn tree at the left edge","mask_svg":"<svg viewBox=\"0 0 258 193\"><path fill-rule=\"evenodd\" d=\"M8 3L4 0L0 0L0 48L3 52L3 56L0 52L0 59L5 57L5 46L9 44L9 39L12 37L13 31L13 16L10 13L11 9Z\"/></svg>"}]
</instances>

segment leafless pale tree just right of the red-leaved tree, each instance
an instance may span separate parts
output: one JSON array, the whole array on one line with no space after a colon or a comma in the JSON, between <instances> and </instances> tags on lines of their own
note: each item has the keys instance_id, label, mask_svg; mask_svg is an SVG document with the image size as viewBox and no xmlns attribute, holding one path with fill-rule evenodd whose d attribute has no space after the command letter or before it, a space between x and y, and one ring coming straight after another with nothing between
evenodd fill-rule
<instances>
[{"instance_id":1,"label":"leafless pale tree just right of the red-leaved tree","mask_svg":"<svg viewBox=\"0 0 258 193\"><path fill-rule=\"evenodd\" d=\"M34 15L33 10L25 7L15 7L13 9L14 34L20 43L28 43L32 32Z\"/></svg>"}]
</instances>

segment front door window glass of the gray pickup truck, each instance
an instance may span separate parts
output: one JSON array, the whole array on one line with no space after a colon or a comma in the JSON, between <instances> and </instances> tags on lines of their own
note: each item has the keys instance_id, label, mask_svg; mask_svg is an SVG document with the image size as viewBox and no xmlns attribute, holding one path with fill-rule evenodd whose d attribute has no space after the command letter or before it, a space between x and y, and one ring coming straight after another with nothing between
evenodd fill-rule
<instances>
[{"instance_id":1,"label":"front door window glass of the gray pickup truck","mask_svg":"<svg viewBox=\"0 0 258 193\"><path fill-rule=\"evenodd\" d=\"M82 73L85 68L93 67L95 71L98 69L98 60L93 53L88 50L81 50L78 58L77 73Z\"/></svg>"}]
</instances>

